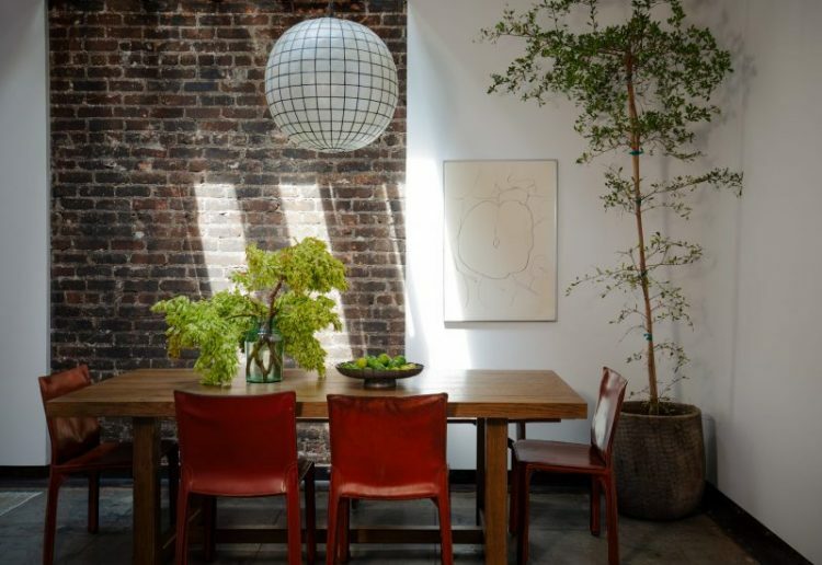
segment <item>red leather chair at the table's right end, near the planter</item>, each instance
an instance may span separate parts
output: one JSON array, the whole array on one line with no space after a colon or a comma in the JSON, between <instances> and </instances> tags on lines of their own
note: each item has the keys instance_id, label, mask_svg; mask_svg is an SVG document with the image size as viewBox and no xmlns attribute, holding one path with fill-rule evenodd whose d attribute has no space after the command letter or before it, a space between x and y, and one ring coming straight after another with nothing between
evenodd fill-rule
<instances>
[{"instance_id":1,"label":"red leather chair at the table's right end, near the planter","mask_svg":"<svg viewBox=\"0 0 822 565\"><path fill-rule=\"evenodd\" d=\"M514 486L511 494L509 528L517 537L518 564L528 562L528 488L535 471L591 476L591 533L594 535L600 535L600 493L604 491L607 505L608 563L619 563L612 451L626 384L626 380L618 372L607 367L603 368L600 399L591 422L591 443L539 439L522 439L514 442Z\"/></svg>"}]
</instances>

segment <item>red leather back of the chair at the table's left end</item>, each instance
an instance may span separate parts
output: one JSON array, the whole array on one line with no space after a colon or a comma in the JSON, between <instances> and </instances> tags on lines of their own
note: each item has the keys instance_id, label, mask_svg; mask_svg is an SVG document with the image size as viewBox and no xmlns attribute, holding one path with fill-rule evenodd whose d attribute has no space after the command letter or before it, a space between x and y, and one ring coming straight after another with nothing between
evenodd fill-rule
<instances>
[{"instance_id":1,"label":"red leather back of the chair at the table's left end","mask_svg":"<svg viewBox=\"0 0 822 565\"><path fill-rule=\"evenodd\" d=\"M85 365L67 371L41 377L39 394L43 408L46 402L91 384ZM80 456L100 443L100 423L92 417L47 418L48 436L52 440L52 464L60 464Z\"/></svg>"}]
</instances>

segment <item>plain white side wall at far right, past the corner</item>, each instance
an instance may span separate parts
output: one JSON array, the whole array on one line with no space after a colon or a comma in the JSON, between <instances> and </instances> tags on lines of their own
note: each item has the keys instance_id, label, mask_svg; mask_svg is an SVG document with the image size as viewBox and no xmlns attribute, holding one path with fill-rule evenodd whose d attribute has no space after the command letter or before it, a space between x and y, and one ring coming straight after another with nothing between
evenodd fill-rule
<instances>
[{"instance_id":1,"label":"plain white side wall at far right, past the corner","mask_svg":"<svg viewBox=\"0 0 822 565\"><path fill-rule=\"evenodd\" d=\"M730 14L744 30L745 194L739 246L727 256L734 331L718 365L728 370L704 394L716 418L717 485L822 563L822 4L740 0Z\"/></svg>"}]
</instances>

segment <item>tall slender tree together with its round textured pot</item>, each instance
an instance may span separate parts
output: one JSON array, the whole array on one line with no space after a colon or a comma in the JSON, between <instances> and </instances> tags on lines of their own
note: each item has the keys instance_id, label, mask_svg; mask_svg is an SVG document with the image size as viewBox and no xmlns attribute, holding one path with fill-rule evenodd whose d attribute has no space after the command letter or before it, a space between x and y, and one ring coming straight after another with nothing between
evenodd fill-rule
<instances>
[{"instance_id":1,"label":"tall slender tree together with its round textured pot","mask_svg":"<svg viewBox=\"0 0 822 565\"><path fill-rule=\"evenodd\" d=\"M687 196L695 189L713 186L740 195L742 175L712 169L649 180L641 173L648 160L694 163L700 155L692 147L695 126L719 114L710 99L731 72L731 58L709 30L686 23L680 0L624 4L609 4L627 11L614 23L603 18L598 0L540 0L523 13L506 10L482 35L525 43L506 72L492 76L489 92L518 94L540 105L551 94L566 95L580 108L574 129L589 143L578 162L613 158L602 200L606 210L630 218L636 240L619 252L616 265L578 277L568 291L594 282L602 297L627 297L613 322L628 324L642 343L627 360L644 364L648 387L647 399L625 403L620 415L615 448L619 506L632 516L672 519L699 504L705 456L699 410L667 400L688 358L658 331L664 324L690 324L685 295L669 274L698 261L703 249L649 229L649 216L666 210L687 219ZM569 24L581 19L583 31ZM666 365L667 378L660 379Z\"/></svg>"}]
</instances>

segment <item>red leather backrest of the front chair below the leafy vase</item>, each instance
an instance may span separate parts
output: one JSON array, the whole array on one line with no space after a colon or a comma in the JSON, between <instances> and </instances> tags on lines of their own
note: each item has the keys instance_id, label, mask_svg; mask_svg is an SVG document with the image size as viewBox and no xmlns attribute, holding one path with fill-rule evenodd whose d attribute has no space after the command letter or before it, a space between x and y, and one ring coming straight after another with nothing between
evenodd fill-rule
<instances>
[{"instance_id":1,"label":"red leather backrest of the front chair below the leafy vase","mask_svg":"<svg viewBox=\"0 0 822 565\"><path fill-rule=\"evenodd\" d=\"M283 494L297 473L294 392L217 396L174 391L181 481L224 496Z\"/></svg>"}]
</instances>

